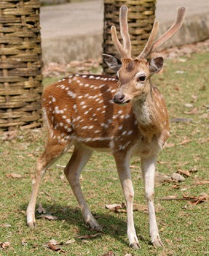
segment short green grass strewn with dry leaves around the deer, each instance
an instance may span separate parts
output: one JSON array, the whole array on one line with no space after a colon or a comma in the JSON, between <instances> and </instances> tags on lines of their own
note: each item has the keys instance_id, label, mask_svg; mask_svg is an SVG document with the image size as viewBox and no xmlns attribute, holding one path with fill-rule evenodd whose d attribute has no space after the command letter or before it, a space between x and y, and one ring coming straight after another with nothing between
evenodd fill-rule
<instances>
[{"instance_id":1,"label":"short green grass strewn with dry leaves around the deer","mask_svg":"<svg viewBox=\"0 0 209 256\"><path fill-rule=\"evenodd\" d=\"M167 195L209 194L208 184L197 186L197 181L208 180L209 169L208 59L209 53L198 53L166 61L163 74L154 77L154 83L164 94L170 118L192 119L191 122L171 123L169 147L164 148L158 158L157 170L160 173L172 174L179 169L191 171L191 176L176 186L163 183L156 187L157 222L164 249L154 249L149 243L148 215L139 211L134 212L134 217L142 249L135 252L127 246L126 214L116 214L104 207L108 203L121 203L124 198L113 158L103 153L92 156L81 179L87 202L103 225L102 236L79 238L95 232L84 224L71 188L59 167L66 165L71 153L59 159L44 176L37 200L47 213L58 219L37 219L36 229L28 229L25 208L31 193L36 157L44 145L43 129L33 129L19 130L14 140L1 141L0 242L9 242L10 245L0 250L0 255L58 255L59 252L46 246L52 238L63 242L60 246L64 251L60 254L63 255L104 255L110 251L114 255L209 255L209 204L194 206L184 200L160 199ZM192 108L186 105L188 103ZM192 110L194 114L190 113ZM133 159L132 164L138 166L132 172L135 203L145 203L140 163ZM9 173L20 174L21 177L11 178ZM36 217L39 215L36 213ZM66 244L68 240L71 244Z\"/></svg>"}]
</instances>

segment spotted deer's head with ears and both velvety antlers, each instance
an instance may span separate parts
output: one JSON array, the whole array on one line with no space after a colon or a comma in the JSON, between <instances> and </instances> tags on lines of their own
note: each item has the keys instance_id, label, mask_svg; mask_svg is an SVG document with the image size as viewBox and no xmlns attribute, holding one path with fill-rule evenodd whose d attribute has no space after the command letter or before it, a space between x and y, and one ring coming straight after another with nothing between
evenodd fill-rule
<instances>
[{"instance_id":1,"label":"spotted deer's head with ears and both velvety antlers","mask_svg":"<svg viewBox=\"0 0 209 256\"><path fill-rule=\"evenodd\" d=\"M173 25L157 40L155 38L157 37L159 23L155 21L145 48L143 48L138 57L133 59L131 57L131 42L127 26L127 7L122 6L120 8L119 24L123 46L117 38L115 26L111 27L111 37L121 56L121 60L119 61L114 56L103 54L108 66L117 72L118 89L113 99L115 103L125 104L136 99L143 99L149 94L151 75L162 69L163 58L157 57L149 61L147 58L181 28L185 13L186 8L179 7Z\"/></svg>"}]
</instances>

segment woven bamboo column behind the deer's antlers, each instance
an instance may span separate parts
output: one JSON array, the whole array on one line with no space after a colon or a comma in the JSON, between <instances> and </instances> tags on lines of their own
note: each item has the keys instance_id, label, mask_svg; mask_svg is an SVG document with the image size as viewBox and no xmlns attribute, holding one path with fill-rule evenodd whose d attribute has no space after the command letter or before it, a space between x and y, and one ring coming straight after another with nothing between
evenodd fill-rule
<instances>
[{"instance_id":1,"label":"woven bamboo column behind the deer's antlers","mask_svg":"<svg viewBox=\"0 0 209 256\"><path fill-rule=\"evenodd\" d=\"M119 8L128 7L128 26L132 42L132 56L136 57L146 44L154 23L156 0L104 0L103 53L118 56L111 40L110 28L116 26L119 39ZM103 72L113 74L103 62Z\"/></svg>"}]
</instances>

